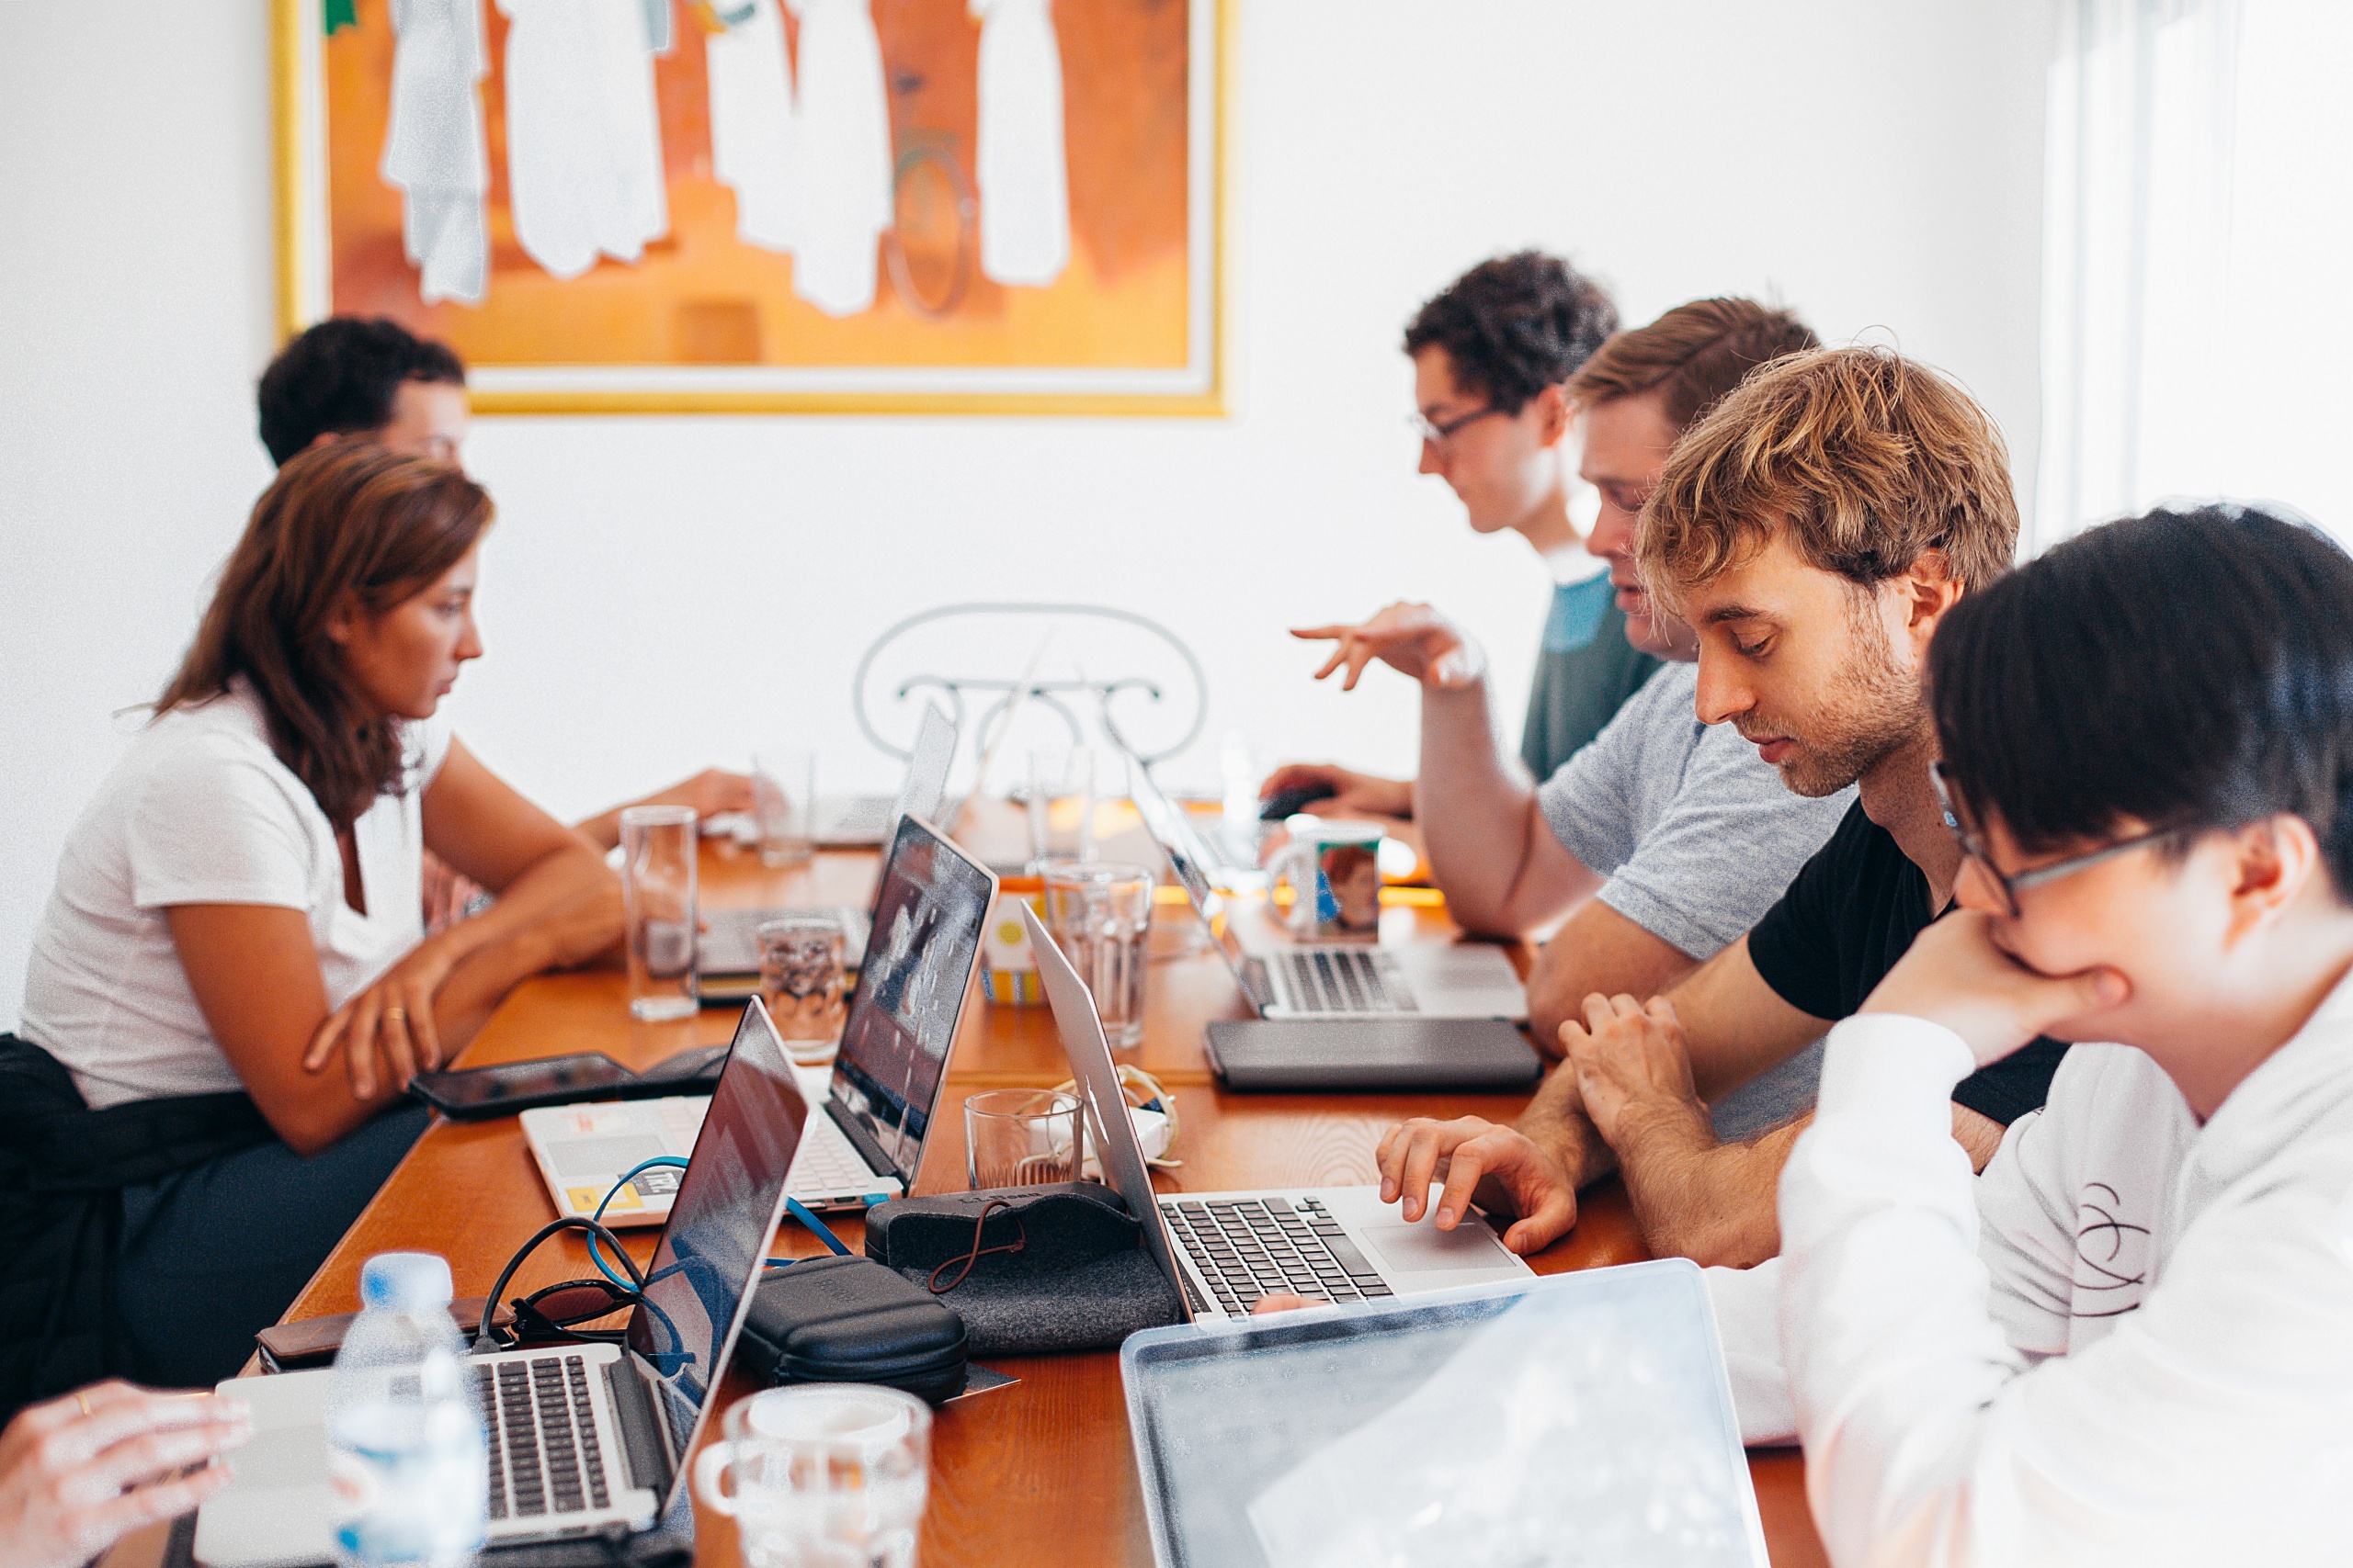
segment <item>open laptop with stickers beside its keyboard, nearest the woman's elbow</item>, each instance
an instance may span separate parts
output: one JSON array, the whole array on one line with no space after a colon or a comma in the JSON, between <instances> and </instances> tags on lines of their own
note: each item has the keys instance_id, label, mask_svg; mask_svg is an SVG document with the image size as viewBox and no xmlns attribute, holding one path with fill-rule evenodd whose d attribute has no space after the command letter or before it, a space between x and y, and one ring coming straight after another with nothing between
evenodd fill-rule
<instances>
[{"instance_id":1,"label":"open laptop with stickers beside its keyboard, nearest the woman's elbow","mask_svg":"<svg viewBox=\"0 0 2353 1568\"><path fill-rule=\"evenodd\" d=\"M793 1161L795 1199L864 1208L915 1180L948 1079L948 1048L972 990L981 929L998 879L920 816L899 823L875 889L873 940L849 992L842 1046ZM522 1135L555 1213L595 1213L624 1171L694 1143L708 1100L609 1100L522 1112ZM607 1225L656 1225L671 1213L675 1171L635 1175L605 1208Z\"/></svg>"}]
</instances>

